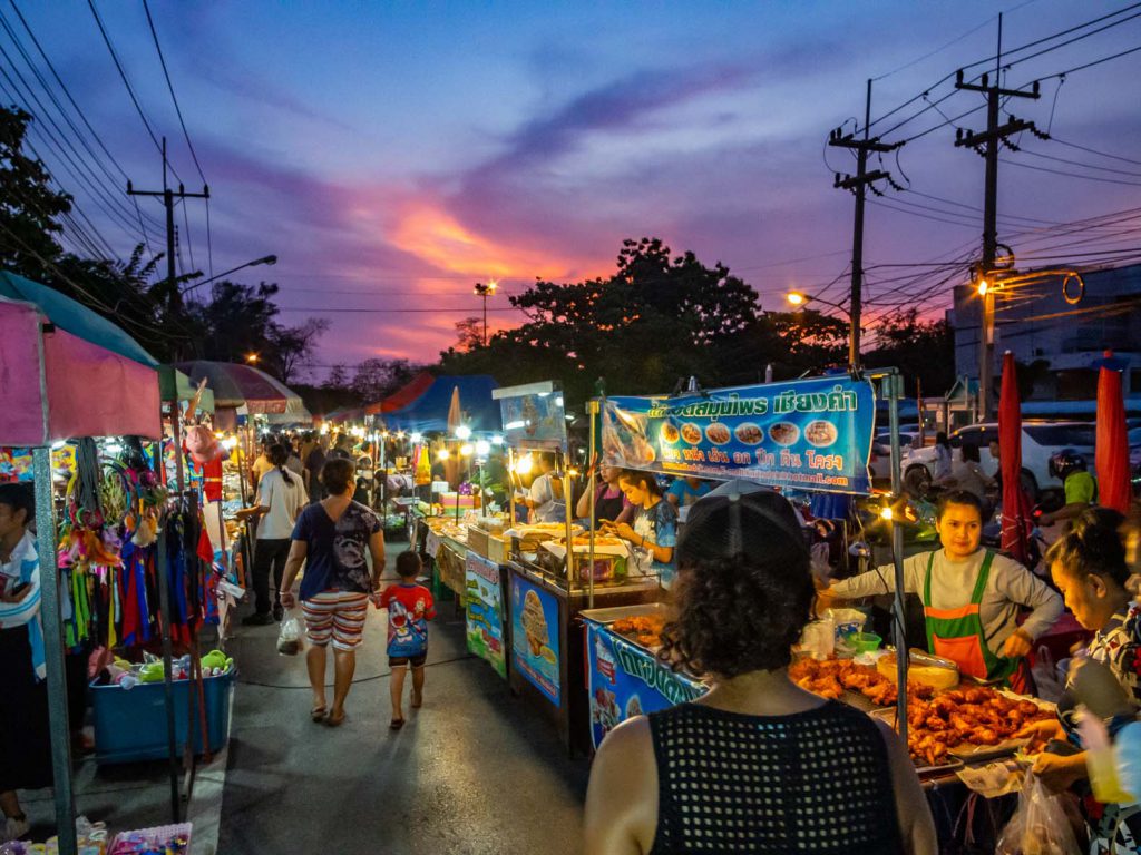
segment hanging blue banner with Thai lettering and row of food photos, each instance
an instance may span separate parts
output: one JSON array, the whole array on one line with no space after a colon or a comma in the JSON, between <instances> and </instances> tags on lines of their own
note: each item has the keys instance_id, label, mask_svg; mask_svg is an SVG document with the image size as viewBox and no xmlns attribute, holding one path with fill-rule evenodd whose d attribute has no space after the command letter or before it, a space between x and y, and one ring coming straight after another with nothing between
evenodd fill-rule
<instances>
[{"instance_id":1,"label":"hanging blue banner with Thai lettering and row of food photos","mask_svg":"<svg viewBox=\"0 0 1141 855\"><path fill-rule=\"evenodd\" d=\"M847 375L602 401L606 462L671 475L871 492L875 389Z\"/></svg>"}]
</instances>

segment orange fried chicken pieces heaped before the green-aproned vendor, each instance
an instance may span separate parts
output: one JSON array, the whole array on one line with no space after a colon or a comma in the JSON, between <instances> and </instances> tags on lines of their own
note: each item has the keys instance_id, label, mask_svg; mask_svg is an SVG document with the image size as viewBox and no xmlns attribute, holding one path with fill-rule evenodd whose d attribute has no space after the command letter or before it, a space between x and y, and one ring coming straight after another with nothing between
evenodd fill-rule
<instances>
[{"instance_id":1,"label":"orange fried chicken pieces heaped before the green-aproned vendor","mask_svg":"<svg viewBox=\"0 0 1141 855\"><path fill-rule=\"evenodd\" d=\"M837 699L845 689L860 692L873 703L896 703L896 686L874 668L849 659L802 659L788 668L801 689ZM1025 725L1054 716L1028 700L978 686L934 694L930 686L907 684L907 742L917 766L938 766L960 746L996 746Z\"/></svg>"}]
</instances>

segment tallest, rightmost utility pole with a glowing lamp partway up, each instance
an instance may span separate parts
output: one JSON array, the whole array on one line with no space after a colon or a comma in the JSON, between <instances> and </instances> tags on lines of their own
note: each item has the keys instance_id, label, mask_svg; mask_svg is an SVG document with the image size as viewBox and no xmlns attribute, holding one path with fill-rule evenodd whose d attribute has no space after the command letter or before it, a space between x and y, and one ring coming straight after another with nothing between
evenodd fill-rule
<instances>
[{"instance_id":1,"label":"tallest, rightmost utility pole with a glowing lamp partway up","mask_svg":"<svg viewBox=\"0 0 1141 855\"><path fill-rule=\"evenodd\" d=\"M979 421L985 422L990 418L990 398L994 388L994 332L995 332L995 283L987 279L987 276L996 269L998 256L998 148L1003 145L1015 149L1006 142L1006 137L1022 131L1036 132L1034 122L1015 119L1011 115L1010 121L1003 125L998 124L998 112L1002 107L1003 98L1038 98L1038 82L1029 92L1020 89L1003 89L1001 85L1002 73L1002 15L998 16L998 50L995 54L995 80L990 85L990 75L984 74L979 83L966 83L963 81L963 71L960 68L955 88L965 89L971 92L981 92L987 97L987 130L984 133L974 131L963 131L960 128L955 132L956 148L973 148L982 155L986 161L986 184L985 201L982 204L982 261L979 263L979 276L982 279L979 284L979 294L982 298L982 320L979 325ZM1015 149L1017 150L1017 149ZM984 284L985 283L985 284Z\"/></svg>"}]
</instances>

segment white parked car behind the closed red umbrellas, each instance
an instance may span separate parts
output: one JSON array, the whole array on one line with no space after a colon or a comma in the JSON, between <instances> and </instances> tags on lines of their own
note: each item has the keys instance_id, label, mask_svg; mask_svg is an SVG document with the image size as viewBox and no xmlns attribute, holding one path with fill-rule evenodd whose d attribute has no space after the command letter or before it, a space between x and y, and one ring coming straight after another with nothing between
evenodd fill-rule
<instances>
[{"instance_id":1,"label":"white parked car behind the closed red umbrellas","mask_svg":"<svg viewBox=\"0 0 1141 855\"><path fill-rule=\"evenodd\" d=\"M1022 422L1022 489L1031 502L1037 502L1046 490L1061 490L1062 482L1050 474L1050 456L1063 448L1073 448L1085 456L1093 472L1093 450L1097 427L1091 422ZM998 463L990 455L989 445L998 441L998 423L986 422L961 427L948 437L954 459L960 458L964 442L979 447L982 469L995 474ZM931 483L934 472L933 447L911 449L904 455L904 486L912 494L922 494Z\"/></svg>"}]
</instances>

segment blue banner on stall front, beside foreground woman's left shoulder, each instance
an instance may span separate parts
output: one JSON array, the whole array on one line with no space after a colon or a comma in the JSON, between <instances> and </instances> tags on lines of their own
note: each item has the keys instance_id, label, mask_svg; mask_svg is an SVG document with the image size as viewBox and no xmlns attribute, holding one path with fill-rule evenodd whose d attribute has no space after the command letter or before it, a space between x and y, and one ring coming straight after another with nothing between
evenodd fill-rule
<instances>
[{"instance_id":1,"label":"blue banner on stall front, beside foreground woman's left shoulder","mask_svg":"<svg viewBox=\"0 0 1141 855\"><path fill-rule=\"evenodd\" d=\"M590 736L594 748L622 722L705 694L705 685L677 674L652 653L593 621L586 621Z\"/></svg>"}]
</instances>

